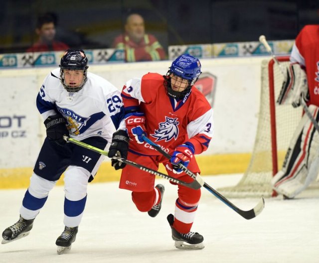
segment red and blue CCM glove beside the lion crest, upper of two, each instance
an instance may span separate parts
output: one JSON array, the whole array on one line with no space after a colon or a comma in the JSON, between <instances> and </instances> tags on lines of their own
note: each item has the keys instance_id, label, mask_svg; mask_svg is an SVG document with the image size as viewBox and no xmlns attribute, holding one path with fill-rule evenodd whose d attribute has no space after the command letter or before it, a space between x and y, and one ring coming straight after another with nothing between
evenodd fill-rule
<instances>
[{"instance_id":1,"label":"red and blue CCM glove beside the lion crest, upper of two","mask_svg":"<svg viewBox=\"0 0 319 263\"><path fill-rule=\"evenodd\" d=\"M125 124L130 138L134 138L140 144L144 143L142 135L147 136L144 113L136 112L125 115Z\"/></svg>"}]
</instances>

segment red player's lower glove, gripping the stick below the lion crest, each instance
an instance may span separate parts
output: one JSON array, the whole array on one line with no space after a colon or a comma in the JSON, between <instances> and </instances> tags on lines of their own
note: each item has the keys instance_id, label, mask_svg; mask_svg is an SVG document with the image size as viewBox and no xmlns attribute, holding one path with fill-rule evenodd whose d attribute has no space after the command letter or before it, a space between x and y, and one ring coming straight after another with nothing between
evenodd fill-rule
<instances>
[{"instance_id":1,"label":"red player's lower glove, gripping the stick below the lion crest","mask_svg":"<svg viewBox=\"0 0 319 263\"><path fill-rule=\"evenodd\" d=\"M173 165L174 170L177 172L181 172L182 170L179 168L178 163L187 167L188 163L190 162L191 158L193 157L195 150L190 143L184 143L178 145L173 152L170 162Z\"/></svg>"}]
</instances>

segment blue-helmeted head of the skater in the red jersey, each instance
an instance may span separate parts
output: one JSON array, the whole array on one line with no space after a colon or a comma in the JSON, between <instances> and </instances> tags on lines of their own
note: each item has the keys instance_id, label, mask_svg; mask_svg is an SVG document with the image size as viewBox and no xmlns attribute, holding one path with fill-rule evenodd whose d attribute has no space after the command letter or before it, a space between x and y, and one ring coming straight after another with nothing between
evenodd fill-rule
<instances>
[{"instance_id":1,"label":"blue-helmeted head of the skater in the red jersey","mask_svg":"<svg viewBox=\"0 0 319 263\"><path fill-rule=\"evenodd\" d=\"M164 76L164 86L168 96L182 99L190 93L201 74L201 65L197 58L184 54L177 57Z\"/></svg>"}]
</instances>

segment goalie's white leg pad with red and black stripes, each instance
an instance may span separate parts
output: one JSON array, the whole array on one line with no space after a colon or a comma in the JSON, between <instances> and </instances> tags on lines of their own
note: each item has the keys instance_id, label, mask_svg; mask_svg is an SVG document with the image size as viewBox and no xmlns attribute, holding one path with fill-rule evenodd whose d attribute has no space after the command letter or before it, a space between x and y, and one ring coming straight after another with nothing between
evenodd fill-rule
<instances>
[{"instance_id":1,"label":"goalie's white leg pad with red and black stripes","mask_svg":"<svg viewBox=\"0 0 319 263\"><path fill-rule=\"evenodd\" d=\"M319 108L310 105L309 111L318 122ZM305 114L290 142L282 170L271 183L277 193L294 198L317 178L318 171L319 132Z\"/></svg>"}]
</instances>

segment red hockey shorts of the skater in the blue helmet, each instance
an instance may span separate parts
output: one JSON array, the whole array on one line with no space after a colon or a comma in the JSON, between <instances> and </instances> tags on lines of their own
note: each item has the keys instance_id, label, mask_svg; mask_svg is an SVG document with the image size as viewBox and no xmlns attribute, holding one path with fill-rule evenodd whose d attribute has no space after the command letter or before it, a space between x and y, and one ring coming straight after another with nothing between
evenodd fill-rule
<instances>
[{"instance_id":1,"label":"red hockey shorts of the skater in the blue helmet","mask_svg":"<svg viewBox=\"0 0 319 263\"><path fill-rule=\"evenodd\" d=\"M134 154L130 151L128 152L127 159L130 161L134 161L138 164L141 164L143 166L146 166L148 168L154 169L156 171L159 169L159 163L163 163L164 166L166 163L169 163L169 160L162 155L141 156L141 155ZM200 172L194 157L190 160L187 168L191 170L193 173ZM175 174L172 171L168 170L167 168L166 168L166 171L169 176L174 178L178 178L180 176L185 175L184 172L181 172L180 174ZM192 180L193 179L189 181L192 181ZM125 168L122 170L119 187L121 189L127 189L134 192L149 192L154 189L154 184L155 184L154 174L148 173L146 171L142 171L139 168L136 168L132 165L127 164Z\"/></svg>"}]
</instances>

